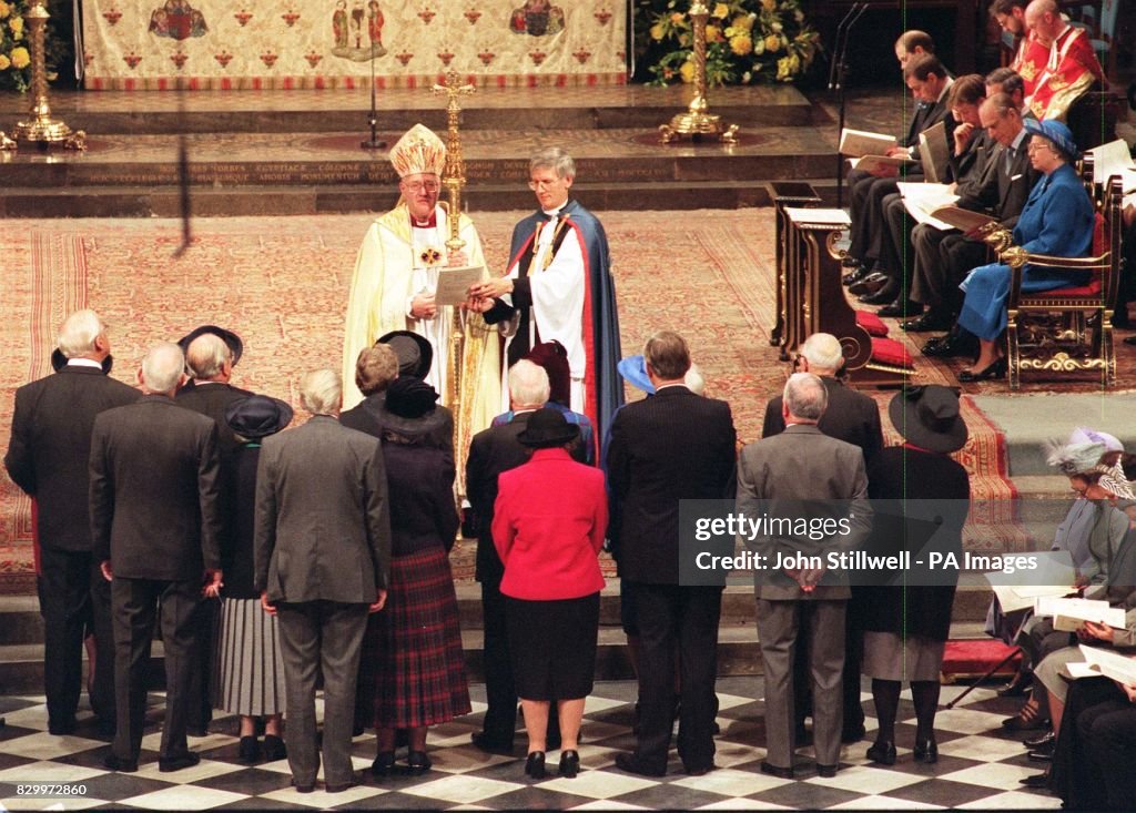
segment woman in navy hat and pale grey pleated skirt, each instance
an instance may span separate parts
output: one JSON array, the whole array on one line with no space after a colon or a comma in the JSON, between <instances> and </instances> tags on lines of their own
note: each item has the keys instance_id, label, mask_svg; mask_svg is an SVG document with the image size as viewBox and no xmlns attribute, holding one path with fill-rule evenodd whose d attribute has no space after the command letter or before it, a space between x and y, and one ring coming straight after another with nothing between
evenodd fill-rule
<instances>
[{"instance_id":1,"label":"woman in navy hat and pale grey pleated skirt","mask_svg":"<svg viewBox=\"0 0 1136 813\"><path fill-rule=\"evenodd\" d=\"M292 408L277 399L250 395L233 401L225 420L236 434L233 460L233 533L225 537L219 631L212 679L212 705L241 715L240 758L283 760L284 664L281 661L275 610L261 607L253 582L253 517L260 442L292 421ZM269 614L270 613L270 614ZM256 720L266 718L265 743L257 740Z\"/></svg>"}]
</instances>

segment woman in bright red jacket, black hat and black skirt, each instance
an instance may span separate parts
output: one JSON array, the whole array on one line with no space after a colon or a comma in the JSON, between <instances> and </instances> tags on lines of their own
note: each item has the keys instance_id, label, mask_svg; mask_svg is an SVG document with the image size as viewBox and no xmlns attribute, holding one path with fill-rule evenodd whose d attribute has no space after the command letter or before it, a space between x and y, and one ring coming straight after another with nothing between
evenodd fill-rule
<instances>
[{"instance_id":1,"label":"woman in bright red jacket, black hat and black skirt","mask_svg":"<svg viewBox=\"0 0 1136 813\"><path fill-rule=\"evenodd\" d=\"M509 649L528 731L525 773L533 779L544 777L552 701L560 721L559 773L570 779L579 771L576 745L595 670L603 589L596 555L608 503L603 472L568 454L578 434L557 410L534 412L517 436L535 450L533 458L501 473L493 509Z\"/></svg>"}]
</instances>

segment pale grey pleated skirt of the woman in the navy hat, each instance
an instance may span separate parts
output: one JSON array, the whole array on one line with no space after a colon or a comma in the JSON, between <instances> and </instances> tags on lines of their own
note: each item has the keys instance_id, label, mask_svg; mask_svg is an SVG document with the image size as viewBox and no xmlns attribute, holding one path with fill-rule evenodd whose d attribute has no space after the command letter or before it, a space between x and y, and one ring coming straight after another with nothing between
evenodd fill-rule
<instances>
[{"instance_id":1,"label":"pale grey pleated skirt of the woman in the navy hat","mask_svg":"<svg viewBox=\"0 0 1136 813\"><path fill-rule=\"evenodd\" d=\"M284 711L284 664L276 617L259 598L224 598L218 613L212 705L232 714Z\"/></svg>"}]
</instances>

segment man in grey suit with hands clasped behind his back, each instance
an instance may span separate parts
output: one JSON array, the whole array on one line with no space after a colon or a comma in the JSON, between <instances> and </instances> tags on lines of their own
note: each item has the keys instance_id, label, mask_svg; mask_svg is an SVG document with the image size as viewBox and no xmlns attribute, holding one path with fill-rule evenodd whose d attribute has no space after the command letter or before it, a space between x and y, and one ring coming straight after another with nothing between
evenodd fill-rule
<instances>
[{"instance_id":1,"label":"man in grey suit with hands clasped behind his back","mask_svg":"<svg viewBox=\"0 0 1136 813\"><path fill-rule=\"evenodd\" d=\"M770 568L777 554L822 555L826 547L857 545L870 530L863 454L857 446L820 431L817 424L827 405L828 394L820 378L811 372L793 374L783 394L785 431L751 443L738 458L740 514L799 517L807 508L803 501L810 501L810 520L826 511L834 519L850 518L850 533L809 545L791 535L769 538L760 552L769 555ZM853 506L836 501L863 503ZM850 592L846 581L824 576L822 569L804 565L755 571L754 577L768 749L761 770L786 779L793 776L796 749L793 670L799 623L809 629L817 770L821 777L834 777L840 763L844 611Z\"/></svg>"}]
</instances>

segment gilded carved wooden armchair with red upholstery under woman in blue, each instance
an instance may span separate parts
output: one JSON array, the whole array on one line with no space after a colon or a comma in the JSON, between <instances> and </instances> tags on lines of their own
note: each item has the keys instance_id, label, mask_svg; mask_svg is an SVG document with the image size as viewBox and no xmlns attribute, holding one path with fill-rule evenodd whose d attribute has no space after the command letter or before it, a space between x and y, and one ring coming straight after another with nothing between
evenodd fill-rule
<instances>
[{"instance_id":1,"label":"gilded carved wooden armchair with red upholstery under woman in blue","mask_svg":"<svg viewBox=\"0 0 1136 813\"><path fill-rule=\"evenodd\" d=\"M1001 244L991 241L1001 261L1011 270L1005 329L1011 389L1021 386L1022 371L1056 374L1058 377L1067 372L1096 371L1104 386L1116 384L1111 320L1122 263L1120 178L1109 178L1095 198L1093 257L1030 254L1009 245L1004 237ZM1022 267L1027 262L1043 268L1084 269L1092 274L1080 286L1027 293L1021 290Z\"/></svg>"}]
</instances>

